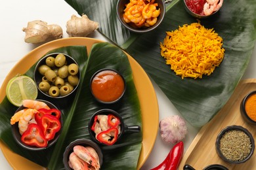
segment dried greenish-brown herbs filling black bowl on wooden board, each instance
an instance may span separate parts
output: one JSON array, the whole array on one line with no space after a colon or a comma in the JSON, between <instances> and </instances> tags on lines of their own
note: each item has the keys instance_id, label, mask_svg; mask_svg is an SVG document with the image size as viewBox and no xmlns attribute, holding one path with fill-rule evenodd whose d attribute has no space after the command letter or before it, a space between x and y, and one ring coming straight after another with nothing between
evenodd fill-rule
<instances>
[{"instance_id":1,"label":"dried greenish-brown herbs filling black bowl on wooden board","mask_svg":"<svg viewBox=\"0 0 256 170\"><path fill-rule=\"evenodd\" d=\"M226 131L220 140L220 150L228 160L242 161L251 150L251 141L244 131Z\"/></svg>"}]
</instances>

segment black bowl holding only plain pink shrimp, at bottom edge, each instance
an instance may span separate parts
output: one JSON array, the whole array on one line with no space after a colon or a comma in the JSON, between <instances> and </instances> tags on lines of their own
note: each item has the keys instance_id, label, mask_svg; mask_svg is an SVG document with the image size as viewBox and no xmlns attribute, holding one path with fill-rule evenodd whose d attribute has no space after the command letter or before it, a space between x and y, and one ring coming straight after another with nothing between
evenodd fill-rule
<instances>
[{"instance_id":1,"label":"black bowl holding only plain pink shrimp, at bottom edge","mask_svg":"<svg viewBox=\"0 0 256 170\"><path fill-rule=\"evenodd\" d=\"M82 163L81 163L82 162ZM103 154L100 147L89 139L77 139L70 143L64 152L63 163L65 169L85 169L93 166L100 169Z\"/></svg>"}]
</instances>

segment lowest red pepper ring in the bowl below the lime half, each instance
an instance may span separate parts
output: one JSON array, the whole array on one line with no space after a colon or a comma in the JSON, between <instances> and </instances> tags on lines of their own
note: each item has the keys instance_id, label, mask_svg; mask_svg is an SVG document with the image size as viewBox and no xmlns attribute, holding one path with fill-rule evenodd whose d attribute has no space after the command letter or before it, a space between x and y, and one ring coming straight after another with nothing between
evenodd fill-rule
<instances>
[{"instance_id":1,"label":"lowest red pepper ring in the bowl below the lime half","mask_svg":"<svg viewBox=\"0 0 256 170\"><path fill-rule=\"evenodd\" d=\"M48 144L45 136L43 135L43 131L37 124L28 125L28 129L22 134L21 141L24 144L37 146L39 148L44 148Z\"/></svg>"}]
</instances>

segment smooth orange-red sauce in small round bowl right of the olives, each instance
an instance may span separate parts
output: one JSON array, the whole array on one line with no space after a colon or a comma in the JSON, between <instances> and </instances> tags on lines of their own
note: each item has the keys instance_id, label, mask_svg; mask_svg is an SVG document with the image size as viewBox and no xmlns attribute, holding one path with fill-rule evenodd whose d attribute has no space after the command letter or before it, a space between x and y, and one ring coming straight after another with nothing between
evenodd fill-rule
<instances>
[{"instance_id":1,"label":"smooth orange-red sauce in small round bowl right of the olives","mask_svg":"<svg viewBox=\"0 0 256 170\"><path fill-rule=\"evenodd\" d=\"M91 82L91 90L96 99L104 102L116 101L125 90L125 82L115 71L105 70L98 73Z\"/></svg>"}]
</instances>

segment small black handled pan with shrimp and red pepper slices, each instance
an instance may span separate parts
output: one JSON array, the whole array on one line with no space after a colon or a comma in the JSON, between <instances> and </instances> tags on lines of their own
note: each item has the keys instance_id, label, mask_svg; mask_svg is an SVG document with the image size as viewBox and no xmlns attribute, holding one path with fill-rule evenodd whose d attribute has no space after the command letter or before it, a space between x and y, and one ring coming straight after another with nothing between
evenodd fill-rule
<instances>
[{"instance_id":1,"label":"small black handled pan with shrimp and red pepper slices","mask_svg":"<svg viewBox=\"0 0 256 170\"><path fill-rule=\"evenodd\" d=\"M102 109L93 114L88 130L93 141L111 146L121 139L124 133L139 132L140 126L125 126L123 118L115 110Z\"/></svg>"}]
</instances>

